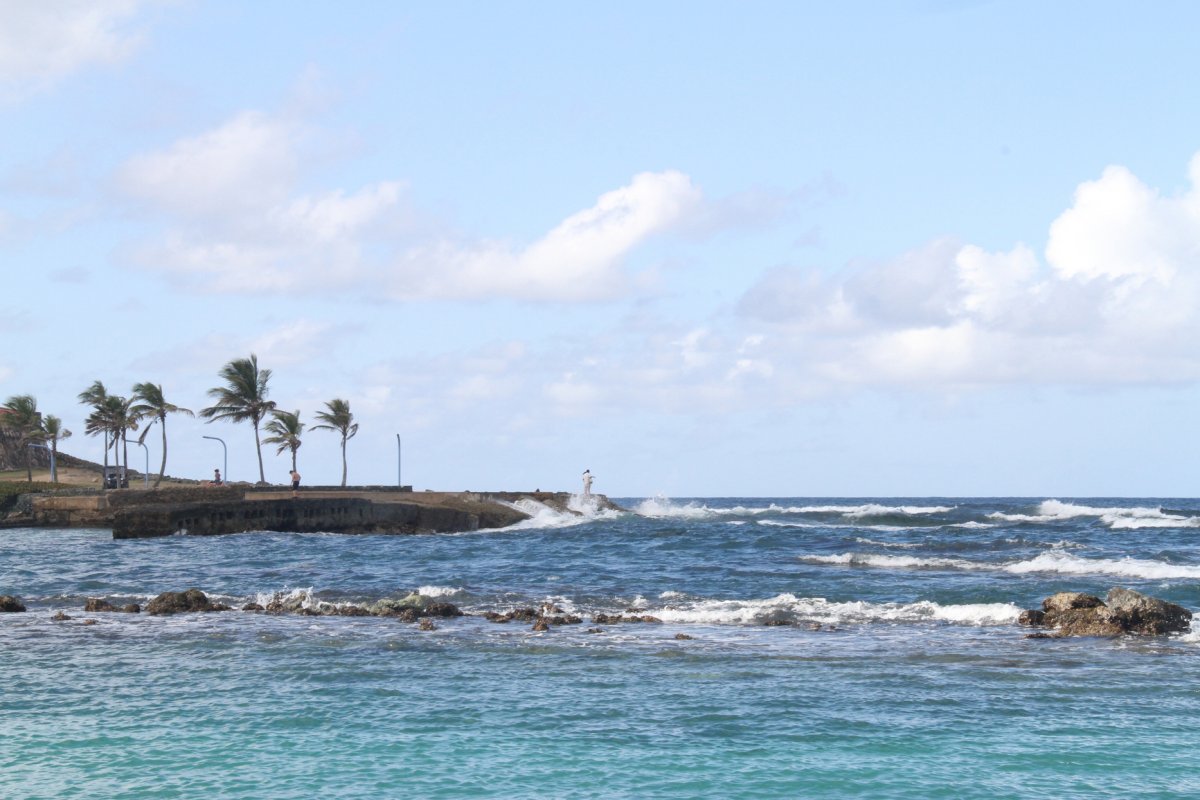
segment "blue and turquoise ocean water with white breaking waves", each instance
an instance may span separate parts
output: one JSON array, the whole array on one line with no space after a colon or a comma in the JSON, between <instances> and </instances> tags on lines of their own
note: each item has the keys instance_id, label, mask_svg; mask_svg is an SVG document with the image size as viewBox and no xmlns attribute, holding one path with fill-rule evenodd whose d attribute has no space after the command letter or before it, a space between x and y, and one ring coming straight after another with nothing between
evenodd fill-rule
<instances>
[{"instance_id":1,"label":"blue and turquoise ocean water with white breaking waves","mask_svg":"<svg viewBox=\"0 0 1200 800\"><path fill-rule=\"evenodd\" d=\"M0 614L0 798L1200 796L1200 625L1015 624L1115 585L1200 610L1200 503L619 503L462 535L0 531L29 607ZM584 622L82 610L190 587ZM628 608L662 621L590 621Z\"/></svg>"}]
</instances>

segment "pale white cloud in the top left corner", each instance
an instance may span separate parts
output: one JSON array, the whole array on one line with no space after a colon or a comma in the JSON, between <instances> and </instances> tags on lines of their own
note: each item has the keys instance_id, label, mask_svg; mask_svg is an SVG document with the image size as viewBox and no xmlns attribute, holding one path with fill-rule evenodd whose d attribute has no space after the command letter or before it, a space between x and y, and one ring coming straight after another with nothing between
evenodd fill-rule
<instances>
[{"instance_id":1,"label":"pale white cloud in the top left corner","mask_svg":"<svg viewBox=\"0 0 1200 800\"><path fill-rule=\"evenodd\" d=\"M112 64L138 46L138 0L0 0L0 91L43 89L89 64Z\"/></svg>"}]
</instances>

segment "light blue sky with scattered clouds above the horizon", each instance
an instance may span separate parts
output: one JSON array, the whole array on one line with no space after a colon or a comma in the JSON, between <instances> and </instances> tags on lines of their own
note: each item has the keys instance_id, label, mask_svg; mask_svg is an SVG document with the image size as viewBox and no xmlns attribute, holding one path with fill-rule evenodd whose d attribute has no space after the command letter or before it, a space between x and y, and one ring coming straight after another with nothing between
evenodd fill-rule
<instances>
[{"instance_id":1,"label":"light blue sky with scattered clouds above the horizon","mask_svg":"<svg viewBox=\"0 0 1200 800\"><path fill-rule=\"evenodd\" d=\"M0 397L68 452L254 353L356 483L1195 493L1195 4L349 8L0 0Z\"/></svg>"}]
</instances>

